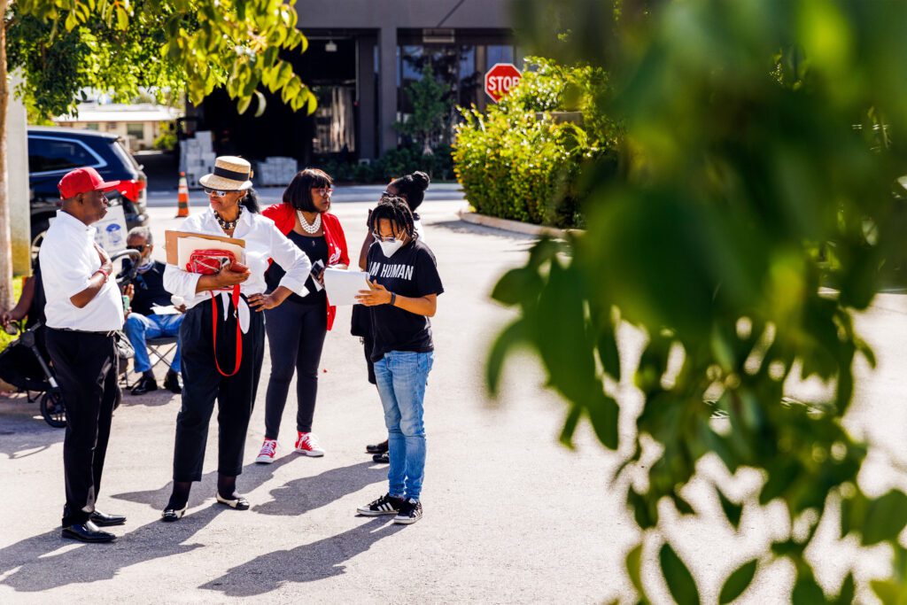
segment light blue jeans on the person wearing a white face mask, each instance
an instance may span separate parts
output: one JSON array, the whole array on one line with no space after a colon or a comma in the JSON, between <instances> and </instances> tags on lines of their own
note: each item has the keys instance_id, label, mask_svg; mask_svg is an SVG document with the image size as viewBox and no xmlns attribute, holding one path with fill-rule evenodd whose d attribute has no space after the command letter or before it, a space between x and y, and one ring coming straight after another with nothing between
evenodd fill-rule
<instances>
[{"instance_id":1,"label":"light blue jeans on the person wearing a white face mask","mask_svg":"<svg viewBox=\"0 0 907 605\"><path fill-rule=\"evenodd\" d=\"M390 469L388 492L418 500L425 475L425 385L434 353L391 351L375 362L375 381L385 408Z\"/></svg>"}]
</instances>

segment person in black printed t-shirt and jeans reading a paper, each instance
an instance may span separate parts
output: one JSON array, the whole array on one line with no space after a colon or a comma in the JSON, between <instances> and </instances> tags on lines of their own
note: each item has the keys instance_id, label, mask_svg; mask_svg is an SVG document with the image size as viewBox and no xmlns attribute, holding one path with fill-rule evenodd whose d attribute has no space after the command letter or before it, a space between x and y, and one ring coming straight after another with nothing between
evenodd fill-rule
<instances>
[{"instance_id":1,"label":"person in black printed t-shirt and jeans reading a paper","mask_svg":"<svg viewBox=\"0 0 907 605\"><path fill-rule=\"evenodd\" d=\"M372 211L375 243L368 250L369 289L357 300L369 309L375 382L389 444L388 492L358 509L395 514L397 523L422 518L425 468L425 385L434 362L432 324L444 292L432 250L419 240L405 200L385 196Z\"/></svg>"}]
</instances>

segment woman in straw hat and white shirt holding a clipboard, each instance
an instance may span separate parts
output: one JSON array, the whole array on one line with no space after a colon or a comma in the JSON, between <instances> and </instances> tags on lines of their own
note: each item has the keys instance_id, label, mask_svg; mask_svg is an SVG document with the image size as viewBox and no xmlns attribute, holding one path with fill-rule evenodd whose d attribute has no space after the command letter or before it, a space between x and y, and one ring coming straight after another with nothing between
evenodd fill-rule
<instances>
[{"instance_id":1,"label":"woman in straw hat and white shirt holding a clipboard","mask_svg":"<svg viewBox=\"0 0 907 605\"><path fill-rule=\"evenodd\" d=\"M236 491L249 416L265 350L264 317L291 294L306 296L311 262L284 237L274 222L258 214L251 191L251 166L242 158L217 158L214 172L201 177L210 210L186 219L181 230L245 241L245 263L235 262L213 275L167 265L164 285L187 307L180 328L182 406L176 422L173 492L163 521L186 512L192 482L201 480L208 425L218 403L219 452L217 502L245 511L249 501ZM212 244L212 249L217 249ZM265 271L273 259L286 271L270 294ZM238 259L239 260L239 259ZM239 296L234 286L239 285Z\"/></svg>"}]
</instances>

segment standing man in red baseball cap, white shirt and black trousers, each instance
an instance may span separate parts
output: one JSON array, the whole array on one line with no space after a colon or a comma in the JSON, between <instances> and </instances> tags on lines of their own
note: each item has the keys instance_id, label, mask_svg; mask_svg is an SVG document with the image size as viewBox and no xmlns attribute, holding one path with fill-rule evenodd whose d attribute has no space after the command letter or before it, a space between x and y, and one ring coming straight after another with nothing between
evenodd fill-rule
<instances>
[{"instance_id":1,"label":"standing man in red baseball cap, white shirt and black trousers","mask_svg":"<svg viewBox=\"0 0 907 605\"><path fill-rule=\"evenodd\" d=\"M68 172L57 187L61 210L51 223L38 259L44 279L47 351L66 407L63 474L66 504L63 538L111 542L100 528L121 525L122 515L95 507L113 407L120 397L115 338L122 329L120 288L111 258L94 241L92 223L107 214L104 181L93 168Z\"/></svg>"}]
</instances>

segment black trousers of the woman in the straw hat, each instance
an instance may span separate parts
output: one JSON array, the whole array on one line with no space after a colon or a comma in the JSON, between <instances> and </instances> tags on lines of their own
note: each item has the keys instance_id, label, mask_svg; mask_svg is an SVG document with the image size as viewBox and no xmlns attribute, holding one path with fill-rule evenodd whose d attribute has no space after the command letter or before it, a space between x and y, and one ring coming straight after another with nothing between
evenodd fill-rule
<instances>
[{"instance_id":1,"label":"black trousers of the woman in the straw hat","mask_svg":"<svg viewBox=\"0 0 907 605\"><path fill-rule=\"evenodd\" d=\"M245 297L243 297L245 299ZM217 356L220 368L232 372L236 364L236 322L232 302L224 320L221 297L218 314ZM239 303L240 306L244 302ZM173 481L201 481L208 425L215 401L218 404L218 473L242 473L249 417L255 404L258 377L265 352L265 322L262 313L249 309L249 331L242 334L242 363L233 376L222 376L214 364L211 303L203 301L189 309L180 327L182 343L182 407L176 419Z\"/></svg>"}]
</instances>

